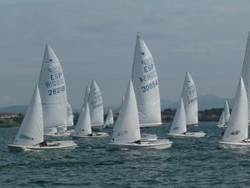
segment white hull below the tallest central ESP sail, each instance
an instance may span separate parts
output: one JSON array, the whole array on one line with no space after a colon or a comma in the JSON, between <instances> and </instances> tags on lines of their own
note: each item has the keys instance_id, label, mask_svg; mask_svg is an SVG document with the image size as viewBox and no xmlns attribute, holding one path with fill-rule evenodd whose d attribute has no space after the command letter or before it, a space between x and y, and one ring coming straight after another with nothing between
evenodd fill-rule
<instances>
[{"instance_id":1,"label":"white hull below the tallest central ESP sail","mask_svg":"<svg viewBox=\"0 0 250 188\"><path fill-rule=\"evenodd\" d=\"M114 148L127 149L167 149L172 146L173 142L168 139L159 139L154 141L141 141L140 143L109 143Z\"/></svg>"}]
</instances>

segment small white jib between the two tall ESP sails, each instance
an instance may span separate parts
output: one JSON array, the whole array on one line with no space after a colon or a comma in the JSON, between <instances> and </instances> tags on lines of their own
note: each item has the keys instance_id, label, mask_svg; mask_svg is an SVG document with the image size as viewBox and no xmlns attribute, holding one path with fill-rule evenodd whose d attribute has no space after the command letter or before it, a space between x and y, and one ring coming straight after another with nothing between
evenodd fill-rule
<instances>
[{"instance_id":1,"label":"small white jib between the two tall ESP sails","mask_svg":"<svg viewBox=\"0 0 250 188\"><path fill-rule=\"evenodd\" d=\"M75 127L75 135L86 136L92 134L89 105L85 103L81 109L78 122Z\"/></svg>"}]
</instances>

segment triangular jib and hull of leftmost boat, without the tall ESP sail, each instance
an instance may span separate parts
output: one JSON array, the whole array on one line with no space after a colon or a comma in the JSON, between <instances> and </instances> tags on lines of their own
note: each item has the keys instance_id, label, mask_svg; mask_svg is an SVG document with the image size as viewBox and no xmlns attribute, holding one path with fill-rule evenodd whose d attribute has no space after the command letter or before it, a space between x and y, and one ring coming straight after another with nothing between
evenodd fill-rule
<instances>
[{"instance_id":1,"label":"triangular jib and hull of leftmost boat, without the tall ESP sail","mask_svg":"<svg viewBox=\"0 0 250 188\"><path fill-rule=\"evenodd\" d=\"M40 92L36 87L23 122L15 137L14 143L8 148L12 151L48 150L59 148L74 148L73 141L44 141L43 111Z\"/></svg>"}]
</instances>

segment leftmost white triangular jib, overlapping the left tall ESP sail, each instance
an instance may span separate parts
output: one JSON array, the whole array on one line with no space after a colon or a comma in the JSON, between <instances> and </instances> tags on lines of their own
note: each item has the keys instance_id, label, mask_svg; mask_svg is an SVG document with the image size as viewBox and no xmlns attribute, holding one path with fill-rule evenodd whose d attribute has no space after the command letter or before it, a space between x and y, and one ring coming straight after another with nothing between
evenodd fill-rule
<instances>
[{"instance_id":1,"label":"leftmost white triangular jib, overlapping the left tall ESP sail","mask_svg":"<svg viewBox=\"0 0 250 188\"><path fill-rule=\"evenodd\" d=\"M28 110L14 140L14 144L36 145L43 142L43 136L42 104L39 89L36 86Z\"/></svg>"}]
</instances>

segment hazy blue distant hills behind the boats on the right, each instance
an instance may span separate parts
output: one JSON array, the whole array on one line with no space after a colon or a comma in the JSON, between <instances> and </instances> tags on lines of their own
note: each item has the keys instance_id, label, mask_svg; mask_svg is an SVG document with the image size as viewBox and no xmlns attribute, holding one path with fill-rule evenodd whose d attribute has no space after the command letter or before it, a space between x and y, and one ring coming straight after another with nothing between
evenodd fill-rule
<instances>
[{"instance_id":1,"label":"hazy blue distant hills behind the boats on the right","mask_svg":"<svg viewBox=\"0 0 250 188\"><path fill-rule=\"evenodd\" d=\"M226 98L218 97L214 94L200 95L198 96L199 110L211 109L211 108L223 108ZM227 99L230 108L233 105L233 99ZM177 101L161 100L162 109L172 108L175 109Z\"/></svg>"}]
</instances>

